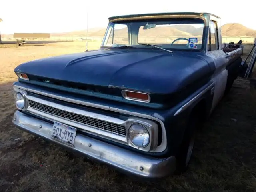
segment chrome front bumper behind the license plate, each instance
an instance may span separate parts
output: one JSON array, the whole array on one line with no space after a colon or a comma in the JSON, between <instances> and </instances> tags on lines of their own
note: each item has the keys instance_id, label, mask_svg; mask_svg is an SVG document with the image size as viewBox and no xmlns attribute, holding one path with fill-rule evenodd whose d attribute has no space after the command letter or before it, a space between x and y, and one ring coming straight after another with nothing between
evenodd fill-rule
<instances>
[{"instance_id":1,"label":"chrome front bumper behind the license plate","mask_svg":"<svg viewBox=\"0 0 256 192\"><path fill-rule=\"evenodd\" d=\"M50 140L74 152L80 152L93 160L104 162L125 174L133 174L145 178L162 178L174 172L176 158L153 158L114 146L82 134L76 134L74 146L68 146L51 137L52 126L48 122L28 116L20 111L14 113L12 122L21 130Z\"/></svg>"}]
</instances>

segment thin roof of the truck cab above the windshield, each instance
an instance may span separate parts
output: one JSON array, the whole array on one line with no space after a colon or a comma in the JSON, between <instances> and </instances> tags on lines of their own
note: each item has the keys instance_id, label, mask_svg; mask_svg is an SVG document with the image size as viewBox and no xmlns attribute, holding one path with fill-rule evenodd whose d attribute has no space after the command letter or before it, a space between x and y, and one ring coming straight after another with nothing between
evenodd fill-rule
<instances>
[{"instance_id":1,"label":"thin roof of the truck cab above the windshield","mask_svg":"<svg viewBox=\"0 0 256 192\"><path fill-rule=\"evenodd\" d=\"M219 18L218 16L211 14L211 13L200 13L200 12L163 12L163 13L145 13L145 14L132 14L132 15L121 15L121 16L112 16L109 17L108 20L115 20L115 19L126 19L126 18L138 18L138 17L146 17L146 16L162 16L162 15L179 15L179 16L186 16L186 15L195 15L195 16L214 16L216 18Z\"/></svg>"}]
</instances>

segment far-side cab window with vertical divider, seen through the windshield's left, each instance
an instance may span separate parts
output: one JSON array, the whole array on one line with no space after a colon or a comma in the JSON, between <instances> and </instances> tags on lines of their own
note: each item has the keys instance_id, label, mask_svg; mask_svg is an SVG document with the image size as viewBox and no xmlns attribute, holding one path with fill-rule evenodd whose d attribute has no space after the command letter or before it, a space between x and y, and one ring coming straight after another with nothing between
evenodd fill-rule
<instances>
[{"instance_id":1,"label":"far-side cab window with vertical divider, seen through the windshield's left","mask_svg":"<svg viewBox=\"0 0 256 192\"><path fill-rule=\"evenodd\" d=\"M114 34L113 34L114 33ZM128 27L126 24L114 24L107 44L129 44Z\"/></svg>"}]
</instances>

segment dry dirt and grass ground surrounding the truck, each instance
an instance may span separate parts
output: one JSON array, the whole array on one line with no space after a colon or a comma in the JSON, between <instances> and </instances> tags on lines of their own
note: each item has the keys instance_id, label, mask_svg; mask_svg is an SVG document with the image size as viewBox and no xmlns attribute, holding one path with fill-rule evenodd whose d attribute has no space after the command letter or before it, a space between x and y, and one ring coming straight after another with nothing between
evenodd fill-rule
<instances>
[{"instance_id":1,"label":"dry dirt and grass ground surrounding the truck","mask_svg":"<svg viewBox=\"0 0 256 192\"><path fill-rule=\"evenodd\" d=\"M89 50L98 46L90 42ZM256 191L256 91L242 78L199 132L188 171L162 181L138 181L15 128L13 69L28 60L84 50L84 42L0 45L0 192Z\"/></svg>"}]
</instances>

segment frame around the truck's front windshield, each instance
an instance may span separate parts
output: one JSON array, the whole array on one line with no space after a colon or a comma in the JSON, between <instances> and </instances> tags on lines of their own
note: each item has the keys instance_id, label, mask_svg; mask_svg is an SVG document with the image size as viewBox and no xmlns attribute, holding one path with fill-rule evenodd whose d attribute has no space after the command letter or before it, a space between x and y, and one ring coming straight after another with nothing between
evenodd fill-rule
<instances>
[{"instance_id":1,"label":"frame around the truck's front windshield","mask_svg":"<svg viewBox=\"0 0 256 192\"><path fill-rule=\"evenodd\" d=\"M172 16L169 16L168 18L166 18L166 17L164 17L164 18L162 18L162 20L164 21L168 21L168 20L174 20L175 21L175 18L177 18L177 16L176 17L172 17ZM201 44L201 47L200 47L200 49L188 49L188 48L166 48L165 47L165 49L167 49L167 50L183 50L183 51L192 51L192 52L201 52L201 51L204 51L205 49L206 49L206 45L207 45L207 40L206 40L206 37L207 37L207 22L206 22L206 18L204 17L204 16L197 16L197 15L192 15L192 16L188 16L188 15L186 15L186 16L179 16L178 17L178 19L180 19L180 20L186 20L186 19L191 19L191 18L195 18L195 19L201 19L202 20L202 24L203 24L203 29L202 29L202 44ZM105 44L105 42L107 41L107 38L109 38L109 33L111 33L111 28L112 28L112 25L114 25L114 24L124 24L124 23L128 23L128 22L148 22L148 21L150 21L150 22L152 22L152 21L156 21L156 20L160 20L160 18L154 18L154 17L152 17L152 18L150 18L150 19L141 19L141 18L134 18L134 19L126 19L126 18L124 18L124 19L122 19L122 20L120 20L120 19L114 19L114 20L109 20L109 23L108 23L108 26L107 26L107 28L106 28L106 32L105 32L105 34L104 34L104 37L103 37L103 40L102 40L102 43L101 43L101 46L100 46L100 48L109 48L109 47L113 47L114 48L114 46L104 46L104 44ZM189 21L189 20L188 20ZM186 24L186 23L184 23L184 24ZM187 24L189 24L189 23L187 23ZM113 28L114 29L114 28ZM112 30L113 30L112 29ZM130 34L130 32L129 32L129 30L128 30L128 40L129 40L129 42L130 42L130 37L131 36L131 34ZM138 42L138 36L137 36L137 43L138 44L140 44L139 42ZM121 44L120 44L121 45ZM134 46L135 44L126 44L127 46ZM137 44L136 44L137 45ZM158 44L152 44L152 45L158 45ZM116 47L116 48L118 48L118 46ZM148 48L151 48L152 49L152 47L150 47L150 46L148 46L148 47L146 47L146 46L141 46L141 47L137 47L137 48L139 48L139 49L148 49ZM157 50L157 49L156 49Z\"/></svg>"}]
</instances>

